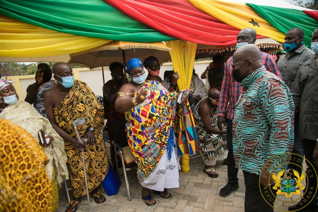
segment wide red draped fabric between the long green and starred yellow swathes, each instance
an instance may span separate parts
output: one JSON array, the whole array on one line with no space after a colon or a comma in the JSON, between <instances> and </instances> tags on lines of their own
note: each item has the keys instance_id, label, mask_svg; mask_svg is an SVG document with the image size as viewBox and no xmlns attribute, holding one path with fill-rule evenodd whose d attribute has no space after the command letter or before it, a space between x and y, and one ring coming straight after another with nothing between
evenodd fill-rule
<instances>
[{"instance_id":1,"label":"wide red draped fabric between the long green and starred yellow swathes","mask_svg":"<svg viewBox=\"0 0 318 212\"><path fill-rule=\"evenodd\" d=\"M197 9L188 0L105 1L158 31L194 43L235 44L240 31ZM257 38L264 38L264 36Z\"/></svg>"}]
</instances>

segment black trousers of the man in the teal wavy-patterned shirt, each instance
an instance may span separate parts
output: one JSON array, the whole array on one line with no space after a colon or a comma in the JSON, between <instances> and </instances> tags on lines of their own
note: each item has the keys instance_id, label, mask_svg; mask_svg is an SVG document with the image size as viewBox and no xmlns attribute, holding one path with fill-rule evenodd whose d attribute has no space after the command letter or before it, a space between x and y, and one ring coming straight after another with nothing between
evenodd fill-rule
<instances>
[{"instance_id":1,"label":"black trousers of the man in the teal wavy-patterned shirt","mask_svg":"<svg viewBox=\"0 0 318 212\"><path fill-rule=\"evenodd\" d=\"M273 211L277 190L260 185L259 175L251 174L246 171L243 171L243 174L246 188L244 205L245 212Z\"/></svg>"}]
</instances>

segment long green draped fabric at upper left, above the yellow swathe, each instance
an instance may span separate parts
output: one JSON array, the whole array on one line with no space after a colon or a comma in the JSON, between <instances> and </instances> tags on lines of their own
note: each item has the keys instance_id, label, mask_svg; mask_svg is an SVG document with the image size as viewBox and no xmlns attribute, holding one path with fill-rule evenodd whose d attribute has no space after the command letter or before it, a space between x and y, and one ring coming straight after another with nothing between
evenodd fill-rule
<instances>
[{"instance_id":1,"label":"long green draped fabric at upper left, above the yellow swathe","mask_svg":"<svg viewBox=\"0 0 318 212\"><path fill-rule=\"evenodd\" d=\"M129 17L104 0L0 0L0 14L84 37L145 43L176 40Z\"/></svg>"}]
</instances>

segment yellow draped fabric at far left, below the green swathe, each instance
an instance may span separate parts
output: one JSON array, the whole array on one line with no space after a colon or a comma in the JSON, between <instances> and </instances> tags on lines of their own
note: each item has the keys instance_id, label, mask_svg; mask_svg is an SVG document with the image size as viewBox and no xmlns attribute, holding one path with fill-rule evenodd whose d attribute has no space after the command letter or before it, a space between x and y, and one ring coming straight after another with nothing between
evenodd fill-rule
<instances>
[{"instance_id":1,"label":"yellow draped fabric at far left, below the green swathe","mask_svg":"<svg viewBox=\"0 0 318 212\"><path fill-rule=\"evenodd\" d=\"M1 57L46 57L84 51L111 40L47 30L0 15Z\"/></svg>"}]
</instances>

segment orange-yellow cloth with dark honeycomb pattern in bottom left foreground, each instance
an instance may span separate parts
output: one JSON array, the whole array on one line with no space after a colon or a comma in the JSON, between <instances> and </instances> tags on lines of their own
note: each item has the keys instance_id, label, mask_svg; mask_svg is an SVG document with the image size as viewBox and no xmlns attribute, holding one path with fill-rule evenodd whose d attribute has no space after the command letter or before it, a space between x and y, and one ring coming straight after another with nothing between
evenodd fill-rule
<instances>
[{"instance_id":1,"label":"orange-yellow cloth with dark honeycomb pattern in bottom left foreground","mask_svg":"<svg viewBox=\"0 0 318 212\"><path fill-rule=\"evenodd\" d=\"M51 211L49 158L42 147L9 120L0 119L0 134L0 211Z\"/></svg>"}]
</instances>

